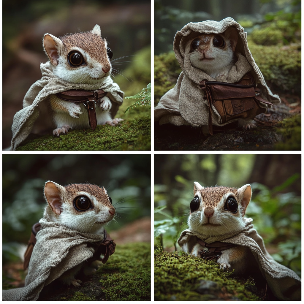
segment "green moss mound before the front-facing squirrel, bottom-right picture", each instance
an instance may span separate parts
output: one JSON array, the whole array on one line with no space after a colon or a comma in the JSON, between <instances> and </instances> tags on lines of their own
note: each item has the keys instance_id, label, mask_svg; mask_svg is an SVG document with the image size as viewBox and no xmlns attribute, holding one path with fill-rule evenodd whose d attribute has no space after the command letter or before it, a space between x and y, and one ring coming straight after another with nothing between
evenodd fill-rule
<instances>
[{"instance_id":1,"label":"green moss mound before the front-facing squirrel, bottom-right picture","mask_svg":"<svg viewBox=\"0 0 304 304\"><path fill-rule=\"evenodd\" d=\"M228 278L231 271L223 272L219 265L189 254L179 255L156 250L154 255L155 301L206 301L206 300L259 300L247 291L244 284ZM195 290L200 280L215 282L217 294L200 294ZM252 282L248 282L252 285Z\"/></svg>"}]
</instances>

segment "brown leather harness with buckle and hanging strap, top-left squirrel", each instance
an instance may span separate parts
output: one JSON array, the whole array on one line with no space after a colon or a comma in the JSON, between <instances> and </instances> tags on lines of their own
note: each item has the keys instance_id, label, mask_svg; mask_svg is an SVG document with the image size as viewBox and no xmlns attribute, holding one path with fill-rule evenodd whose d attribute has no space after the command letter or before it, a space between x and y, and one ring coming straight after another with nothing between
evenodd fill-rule
<instances>
[{"instance_id":1,"label":"brown leather harness with buckle and hanging strap, top-left squirrel","mask_svg":"<svg viewBox=\"0 0 304 304\"><path fill-rule=\"evenodd\" d=\"M56 96L62 100L74 103L83 102L85 108L88 110L89 124L92 130L97 126L95 104L107 95L107 92L102 89L94 91L86 90L68 90L57 93Z\"/></svg>"}]
</instances>

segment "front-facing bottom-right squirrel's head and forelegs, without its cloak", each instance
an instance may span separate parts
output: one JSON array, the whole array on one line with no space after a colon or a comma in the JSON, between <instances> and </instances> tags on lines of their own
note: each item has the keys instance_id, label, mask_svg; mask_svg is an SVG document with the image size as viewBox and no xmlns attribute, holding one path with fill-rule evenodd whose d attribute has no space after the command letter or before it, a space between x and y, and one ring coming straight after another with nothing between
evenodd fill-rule
<instances>
[{"instance_id":1,"label":"front-facing bottom-right squirrel's head and forelegs, without its cloak","mask_svg":"<svg viewBox=\"0 0 304 304\"><path fill-rule=\"evenodd\" d=\"M206 237L218 237L245 228L244 215L251 198L249 184L239 189L228 187L204 188L194 182L194 199L190 202L189 229ZM191 254L201 257L208 248L195 244ZM188 250L186 250L188 251ZM222 250L217 259L222 269L235 269L239 275L247 265L255 263L247 247L236 245Z\"/></svg>"}]
</instances>

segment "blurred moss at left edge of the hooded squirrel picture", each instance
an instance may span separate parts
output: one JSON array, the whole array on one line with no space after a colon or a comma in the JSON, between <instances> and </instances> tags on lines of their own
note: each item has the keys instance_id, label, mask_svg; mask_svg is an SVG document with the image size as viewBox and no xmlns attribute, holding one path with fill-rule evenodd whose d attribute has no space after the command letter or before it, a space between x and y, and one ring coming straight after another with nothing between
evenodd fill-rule
<instances>
[{"instance_id":1,"label":"blurred moss at left edge of the hooded squirrel picture","mask_svg":"<svg viewBox=\"0 0 304 304\"><path fill-rule=\"evenodd\" d=\"M161 96L174 87L181 73L174 52L154 56L154 102L159 102Z\"/></svg>"}]
</instances>

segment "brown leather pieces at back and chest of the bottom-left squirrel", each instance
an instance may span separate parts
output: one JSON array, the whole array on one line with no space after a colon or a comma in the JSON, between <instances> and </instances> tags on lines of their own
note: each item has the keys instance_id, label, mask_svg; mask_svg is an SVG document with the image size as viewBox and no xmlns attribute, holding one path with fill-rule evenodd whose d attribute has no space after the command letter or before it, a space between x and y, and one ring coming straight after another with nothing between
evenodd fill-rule
<instances>
[{"instance_id":1,"label":"brown leather pieces at back and chest of the bottom-left squirrel","mask_svg":"<svg viewBox=\"0 0 304 304\"><path fill-rule=\"evenodd\" d=\"M38 231L42 229L40 223L36 223L32 226L32 234L29 239L26 252L24 254L24 263L23 263L23 269L26 270L29 267L29 260L32 256L33 248L37 242L36 240L36 234ZM105 264L106 261L108 261L108 258L110 255L112 255L115 252L115 246L113 239L111 239L110 235L107 234L106 230L104 230L104 239L100 242L96 243L89 243L90 247L93 247L95 250L95 253L91 258L89 258L88 263L92 263L96 260L102 261L103 264ZM100 255L103 254L103 258L100 258Z\"/></svg>"}]
</instances>

